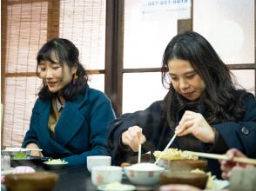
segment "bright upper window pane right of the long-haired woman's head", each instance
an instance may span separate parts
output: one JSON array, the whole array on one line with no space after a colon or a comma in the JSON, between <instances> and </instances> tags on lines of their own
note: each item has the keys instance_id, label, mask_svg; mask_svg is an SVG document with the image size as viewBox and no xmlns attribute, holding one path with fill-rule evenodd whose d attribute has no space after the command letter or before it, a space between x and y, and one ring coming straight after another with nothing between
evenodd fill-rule
<instances>
[{"instance_id":1,"label":"bright upper window pane right of the long-haired woman's head","mask_svg":"<svg viewBox=\"0 0 256 191\"><path fill-rule=\"evenodd\" d=\"M229 63L254 63L254 0L197 0L193 30L212 43Z\"/></svg>"}]
</instances>

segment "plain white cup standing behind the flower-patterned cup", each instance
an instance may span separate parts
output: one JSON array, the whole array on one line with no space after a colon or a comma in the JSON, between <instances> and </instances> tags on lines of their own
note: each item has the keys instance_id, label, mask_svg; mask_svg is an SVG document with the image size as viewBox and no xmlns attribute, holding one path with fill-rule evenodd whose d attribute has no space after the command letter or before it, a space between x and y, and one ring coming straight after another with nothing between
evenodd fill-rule
<instances>
[{"instance_id":1,"label":"plain white cup standing behind the flower-patterned cup","mask_svg":"<svg viewBox=\"0 0 256 191\"><path fill-rule=\"evenodd\" d=\"M111 156L93 155L87 156L87 169L91 172L91 168L98 166L111 166Z\"/></svg>"}]
</instances>

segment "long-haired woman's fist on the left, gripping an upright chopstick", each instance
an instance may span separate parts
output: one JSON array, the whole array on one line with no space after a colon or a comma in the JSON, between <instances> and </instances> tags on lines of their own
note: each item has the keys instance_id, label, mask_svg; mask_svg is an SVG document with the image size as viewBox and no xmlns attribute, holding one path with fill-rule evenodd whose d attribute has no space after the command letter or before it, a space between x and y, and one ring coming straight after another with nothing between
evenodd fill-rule
<instances>
[{"instance_id":1,"label":"long-haired woman's fist on the left, gripping an upright chopstick","mask_svg":"<svg viewBox=\"0 0 256 191\"><path fill-rule=\"evenodd\" d=\"M142 134L142 128L132 126L122 134L121 141L124 145L129 146L134 152L138 152L139 144L145 142L145 135Z\"/></svg>"}]
</instances>

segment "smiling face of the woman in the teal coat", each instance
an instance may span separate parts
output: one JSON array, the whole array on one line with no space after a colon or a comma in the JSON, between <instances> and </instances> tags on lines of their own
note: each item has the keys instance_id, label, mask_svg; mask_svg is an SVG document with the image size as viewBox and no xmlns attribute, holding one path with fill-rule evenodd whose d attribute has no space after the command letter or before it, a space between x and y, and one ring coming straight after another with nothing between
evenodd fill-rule
<instances>
[{"instance_id":1,"label":"smiling face of the woman in the teal coat","mask_svg":"<svg viewBox=\"0 0 256 191\"><path fill-rule=\"evenodd\" d=\"M51 93L57 93L71 82L76 69L70 69L67 63L63 65L58 63L55 55L52 56L52 60L55 63L49 61L39 63L38 72Z\"/></svg>"}]
</instances>

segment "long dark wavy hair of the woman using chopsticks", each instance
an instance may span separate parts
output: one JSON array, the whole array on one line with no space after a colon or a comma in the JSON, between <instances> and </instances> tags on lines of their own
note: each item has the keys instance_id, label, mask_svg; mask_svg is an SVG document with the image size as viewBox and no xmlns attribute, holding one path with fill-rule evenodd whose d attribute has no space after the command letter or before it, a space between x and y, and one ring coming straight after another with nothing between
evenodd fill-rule
<instances>
[{"instance_id":1,"label":"long dark wavy hair of the woman using chopsticks","mask_svg":"<svg viewBox=\"0 0 256 191\"><path fill-rule=\"evenodd\" d=\"M181 115L180 112L189 104L175 91L168 78L167 63L173 58L190 62L205 82L205 92L201 95L197 106L207 122L210 124L234 122L242 117L244 102L241 97L246 91L235 89L232 74L205 37L193 31L186 31L172 38L163 56L162 84L165 87L168 84L167 88L170 89L165 96L163 107L171 127L177 125L177 114Z\"/></svg>"}]
</instances>

